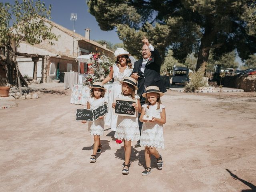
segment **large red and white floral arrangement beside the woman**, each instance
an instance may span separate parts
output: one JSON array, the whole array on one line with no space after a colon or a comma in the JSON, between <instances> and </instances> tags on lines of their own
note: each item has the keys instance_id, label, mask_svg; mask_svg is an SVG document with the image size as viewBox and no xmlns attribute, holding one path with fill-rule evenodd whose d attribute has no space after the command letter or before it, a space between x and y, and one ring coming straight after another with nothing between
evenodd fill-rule
<instances>
[{"instance_id":1,"label":"large red and white floral arrangement beside the woman","mask_svg":"<svg viewBox=\"0 0 256 192\"><path fill-rule=\"evenodd\" d=\"M101 82L110 73L112 61L106 55L100 57L98 53L92 56L92 62L88 67L94 74L88 74L83 80L84 86L91 86L94 82Z\"/></svg>"}]
</instances>

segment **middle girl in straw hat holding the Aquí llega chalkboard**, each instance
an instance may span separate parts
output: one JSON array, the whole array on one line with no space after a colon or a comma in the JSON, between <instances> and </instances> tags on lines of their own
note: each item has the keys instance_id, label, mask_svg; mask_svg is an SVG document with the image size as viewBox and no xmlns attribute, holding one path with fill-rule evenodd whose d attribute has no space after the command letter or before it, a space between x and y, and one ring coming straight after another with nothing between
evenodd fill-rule
<instances>
[{"instance_id":1,"label":"middle girl in straw hat holding the Aqu\u00ed llega chalkboard","mask_svg":"<svg viewBox=\"0 0 256 192\"><path fill-rule=\"evenodd\" d=\"M124 78L122 83L122 93L118 94L116 98L119 99L128 99L128 100L136 100L136 103L133 103L132 106L136 111L141 112L142 108L140 106L140 97L135 95L135 89L137 81L134 78L126 77ZM112 103L112 107L115 108L116 104ZM132 152L132 141L140 140L140 130L138 125L138 113L136 113L136 117L130 116L119 116L117 118L117 127L115 138L124 141L124 154L125 160L123 163L123 174L129 173L130 166L130 156Z\"/></svg>"}]
</instances>

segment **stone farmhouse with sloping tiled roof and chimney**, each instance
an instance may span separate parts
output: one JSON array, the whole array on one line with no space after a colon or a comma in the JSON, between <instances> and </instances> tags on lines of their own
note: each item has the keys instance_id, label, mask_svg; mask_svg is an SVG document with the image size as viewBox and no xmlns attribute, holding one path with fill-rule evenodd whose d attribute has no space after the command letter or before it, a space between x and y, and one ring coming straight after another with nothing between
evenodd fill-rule
<instances>
[{"instance_id":1,"label":"stone farmhouse with sloping tiled roof and chimney","mask_svg":"<svg viewBox=\"0 0 256 192\"><path fill-rule=\"evenodd\" d=\"M100 55L114 57L114 52L106 48L106 44L101 45L90 40L90 29L88 28L85 29L85 36L74 33L73 38L72 30L50 20L45 20L45 23L48 26L50 24L53 26L52 32L59 36L58 41L55 41L54 45L50 45L46 40L34 46L25 41L21 42L17 50L20 53L17 62L23 76L27 74L35 79L36 74L36 79L40 82L52 82L53 79L56 79L57 67L60 73L70 71L86 73L88 64L78 63L76 60L80 55L98 52ZM40 57L36 57L36 55L40 55Z\"/></svg>"}]
</instances>

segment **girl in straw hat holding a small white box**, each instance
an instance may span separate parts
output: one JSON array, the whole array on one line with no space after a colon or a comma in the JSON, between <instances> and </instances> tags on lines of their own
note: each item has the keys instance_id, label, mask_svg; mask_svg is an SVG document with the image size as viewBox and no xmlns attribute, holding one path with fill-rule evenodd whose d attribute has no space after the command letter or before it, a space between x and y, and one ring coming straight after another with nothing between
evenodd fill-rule
<instances>
[{"instance_id":1,"label":"girl in straw hat holding a small white box","mask_svg":"<svg viewBox=\"0 0 256 192\"><path fill-rule=\"evenodd\" d=\"M144 122L141 130L140 144L145 146L146 170L142 176L151 172L150 154L157 159L158 169L162 169L162 156L156 148L164 148L163 124L166 123L165 106L162 105L160 97L164 93L157 86L148 86L142 94L146 98L146 104L142 105L140 122ZM145 116L145 117L144 117Z\"/></svg>"}]
</instances>

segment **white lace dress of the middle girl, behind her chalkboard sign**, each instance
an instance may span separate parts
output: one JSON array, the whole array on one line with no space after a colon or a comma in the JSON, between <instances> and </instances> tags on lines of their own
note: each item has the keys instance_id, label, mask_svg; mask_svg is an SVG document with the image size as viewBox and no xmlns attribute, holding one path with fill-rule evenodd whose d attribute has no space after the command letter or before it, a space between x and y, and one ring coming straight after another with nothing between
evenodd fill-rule
<instances>
[{"instance_id":1,"label":"white lace dress of the middle girl, behind her chalkboard sign","mask_svg":"<svg viewBox=\"0 0 256 192\"><path fill-rule=\"evenodd\" d=\"M116 98L132 99L131 96L124 96L123 94L118 94ZM140 97L138 95L135 95L135 99L140 100ZM128 141L140 140L138 112L136 117L118 115L115 138L120 140L124 139Z\"/></svg>"}]
</instances>

